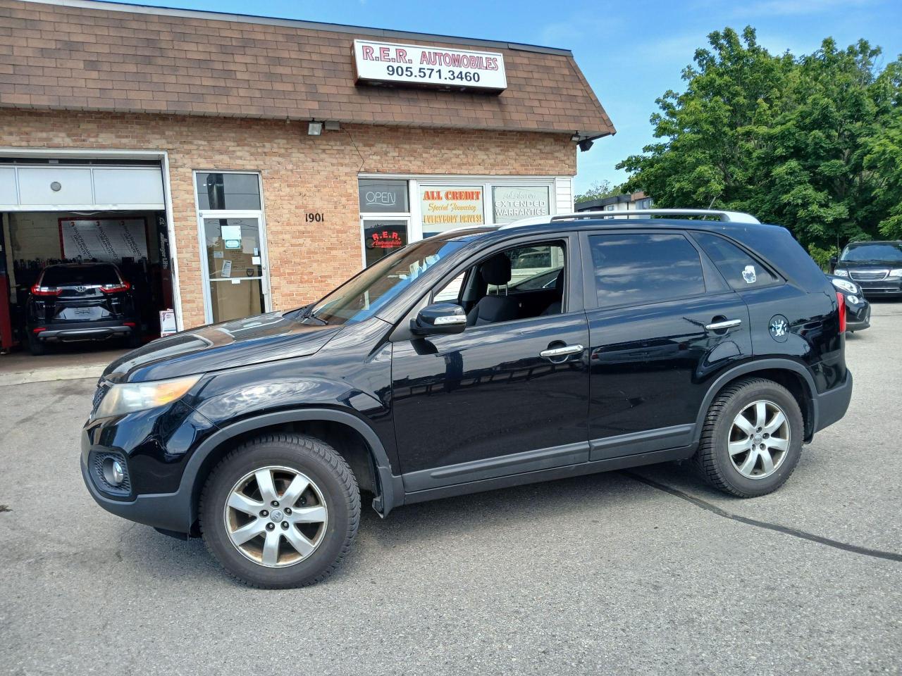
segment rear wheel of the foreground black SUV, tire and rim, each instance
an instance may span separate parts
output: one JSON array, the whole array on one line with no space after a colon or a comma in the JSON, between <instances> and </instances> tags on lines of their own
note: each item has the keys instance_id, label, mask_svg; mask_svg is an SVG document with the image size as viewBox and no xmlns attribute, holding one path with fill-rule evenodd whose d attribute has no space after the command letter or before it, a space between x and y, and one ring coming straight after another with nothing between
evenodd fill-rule
<instances>
[{"instance_id":1,"label":"rear wheel of the foreground black SUV, tire and rim","mask_svg":"<svg viewBox=\"0 0 902 676\"><path fill-rule=\"evenodd\" d=\"M715 489L756 498L786 483L804 437L802 412L787 388L742 379L723 388L708 409L695 466Z\"/></svg>"}]
</instances>

